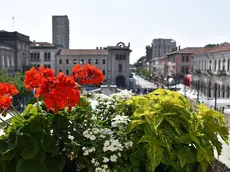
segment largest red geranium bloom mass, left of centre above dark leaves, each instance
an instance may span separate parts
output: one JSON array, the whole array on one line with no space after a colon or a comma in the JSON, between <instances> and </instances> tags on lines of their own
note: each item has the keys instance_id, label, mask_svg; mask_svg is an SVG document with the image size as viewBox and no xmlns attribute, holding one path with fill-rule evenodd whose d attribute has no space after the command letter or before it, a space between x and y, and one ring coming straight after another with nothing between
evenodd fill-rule
<instances>
[{"instance_id":1,"label":"largest red geranium bloom mass, left of centre above dark leaves","mask_svg":"<svg viewBox=\"0 0 230 172\"><path fill-rule=\"evenodd\" d=\"M73 78L63 73L54 76L52 69L43 67L37 71L31 68L26 72L24 82L26 88L30 90L36 88L35 96L43 98L48 111L52 109L57 113L67 106L71 109L80 99L79 86Z\"/></svg>"}]
</instances>

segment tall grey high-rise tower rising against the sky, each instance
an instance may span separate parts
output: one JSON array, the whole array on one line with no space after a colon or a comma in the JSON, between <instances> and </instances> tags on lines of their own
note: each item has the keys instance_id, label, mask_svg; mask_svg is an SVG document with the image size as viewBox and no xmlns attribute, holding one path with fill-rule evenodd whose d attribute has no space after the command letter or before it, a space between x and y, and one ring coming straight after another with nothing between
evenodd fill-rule
<instances>
[{"instance_id":1,"label":"tall grey high-rise tower rising against the sky","mask_svg":"<svg viewBox=\"0 0 230 172\"><path fill-rule=\"evenodd\" d=\"M68 16L52 16L53 44L69 48L69 19Z\"/></svg>"}]
</instances>

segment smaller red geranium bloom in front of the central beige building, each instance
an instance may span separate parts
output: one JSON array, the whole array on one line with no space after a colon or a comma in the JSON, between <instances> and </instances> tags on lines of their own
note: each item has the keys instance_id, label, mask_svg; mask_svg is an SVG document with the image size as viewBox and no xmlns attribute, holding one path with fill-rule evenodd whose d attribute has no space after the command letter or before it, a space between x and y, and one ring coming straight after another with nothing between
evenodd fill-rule
<instances>
[{"instance_id":1,"label":"smaller red geranium bloom in front of the central beige building","mask_svg":"<svg viewBox=\"0 0 230 172\"><path fill-rule=\"evenodd\" d=\"M80 84L101 84L104 81L102 71L88 63L85 66L76 65L73 69L73 77Z\"/></svg>"}]
</instances>

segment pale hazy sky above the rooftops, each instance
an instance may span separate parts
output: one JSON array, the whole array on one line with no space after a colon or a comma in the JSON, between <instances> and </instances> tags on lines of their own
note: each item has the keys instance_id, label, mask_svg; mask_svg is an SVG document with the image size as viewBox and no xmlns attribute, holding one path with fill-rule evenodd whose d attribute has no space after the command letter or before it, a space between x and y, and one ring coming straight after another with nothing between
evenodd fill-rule
<instances>
[{"instance_id":1,"label":"pale hazy sky above the rooftops","mask_svg":"<svg viewBox=\"0 0 230 172\"><path fill-rule=\"evenodd\" d=\"M0 30L52 43L52 15L67 15L71 49L130 43L131 63L145 55L145 46L154 38L174 39L181 48L230 42L229 0L0 0L0 4Z\"/></svg>"}]
</instances>

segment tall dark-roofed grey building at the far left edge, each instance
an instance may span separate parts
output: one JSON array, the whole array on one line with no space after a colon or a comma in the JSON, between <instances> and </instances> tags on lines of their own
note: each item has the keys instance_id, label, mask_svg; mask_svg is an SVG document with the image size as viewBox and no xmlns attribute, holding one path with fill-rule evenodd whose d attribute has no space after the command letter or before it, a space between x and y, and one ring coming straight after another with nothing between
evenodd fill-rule
<instances>
[{"instance_id":1,"label":"tall dark-roofed grey building at the far left edge","mask_svg":"<svg viewBox=\"0 0 230 172\"><path fill-rule=\"evenodd\" d=\"M14 49L14 59L12 63L15 71L23 71L27 68L30 61L30 39L29 36L18 32L0 31L0 44L5 47ZM1 56L2 59L7 58Z\"/></svg>"}]
</instances>

